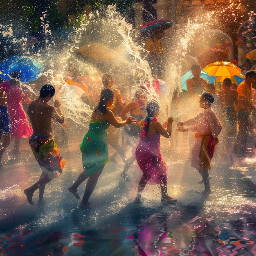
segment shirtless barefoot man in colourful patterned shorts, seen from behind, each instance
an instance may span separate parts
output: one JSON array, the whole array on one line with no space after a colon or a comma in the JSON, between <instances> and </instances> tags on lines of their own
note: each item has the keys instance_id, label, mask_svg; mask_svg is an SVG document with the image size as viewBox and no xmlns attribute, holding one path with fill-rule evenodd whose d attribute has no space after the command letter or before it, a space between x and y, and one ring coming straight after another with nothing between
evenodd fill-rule
<instances>
[{"instance_id":1,"label":"shirtless barefoot man in colourful patterned shorts, seen from behind","mask_svg":"<svg viewBox=\"0 0 256 256\"><path fill-rule=\"evenodd\" d=\"M61 175L66 162L61 157L59 148L52 136L51 120L53 119L60 124L64 122L60 103L56 100L54 106L48 105L48 101L54 96L54 93L55 89L52 85L43 85L39 97L31 101L27 108L27 114L33 128L29 145L42 169L40 179L24 190L30 204L34 204L32 198L36 189L39 189L39 202L42 202L45 185Z\"/></svg>"}]
</instances>

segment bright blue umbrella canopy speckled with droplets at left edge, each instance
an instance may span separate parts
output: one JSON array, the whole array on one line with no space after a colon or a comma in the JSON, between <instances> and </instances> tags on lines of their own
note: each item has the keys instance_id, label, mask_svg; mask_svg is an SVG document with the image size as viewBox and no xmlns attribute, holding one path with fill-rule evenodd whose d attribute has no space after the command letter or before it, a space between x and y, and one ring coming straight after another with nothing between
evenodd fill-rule
<instances>
[{"instance_id":1,"label":"bright blue umbrella canopy speckled with droplets at left edge","mask_svg":"<svg viewBox=\"0 0 256 256\"><path fill-rule=\"evenodd\" d=\"M41 70L41 63L27 56L15 55L0 62L0 71L2 72L0 76L4 80L9 80L8 75L11 75L11 73L19 72L20 81L28 83L36 80Z\"/></svg>"}]
</instances>

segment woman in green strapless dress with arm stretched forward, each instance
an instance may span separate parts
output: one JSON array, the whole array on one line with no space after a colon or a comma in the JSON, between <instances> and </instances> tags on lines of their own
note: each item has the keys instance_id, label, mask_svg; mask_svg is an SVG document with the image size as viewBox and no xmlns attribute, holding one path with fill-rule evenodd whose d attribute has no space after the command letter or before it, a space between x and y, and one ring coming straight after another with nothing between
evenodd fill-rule
<instances>
[{"instance_id":1,"label":"woman in green strapless dress with arm stretched forward","mask_svg":"<svg viewBox=\"0 0 256 256\"><path fill-rule=\"evenodd\" d=\"M89 130L85 134L80 145L83 172L80 173L74 184L70 186L68 190L75 196L75 198L80 199L80 196L77 193L77 188L88 178L83 199L80 204L81 208L92 206L88 200L105 164L109 162L107 130L110 124L116 128L120 128L126 124L136 124L136 119L132 117L128 117L125 121L117 121L115 115L108 109L113 104L113 101L114 93L112 90L104 89L101 91L99 105L96 106L92 112Z\"/></svg>"}]
</instances>

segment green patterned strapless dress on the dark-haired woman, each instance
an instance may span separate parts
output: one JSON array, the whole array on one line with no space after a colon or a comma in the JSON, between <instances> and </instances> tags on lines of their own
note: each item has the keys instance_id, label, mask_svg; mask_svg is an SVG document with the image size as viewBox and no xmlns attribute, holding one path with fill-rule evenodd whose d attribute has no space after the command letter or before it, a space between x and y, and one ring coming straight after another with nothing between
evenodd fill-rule
<instances>
[{"instance_id":1,"label":"green patterned strapless dress on the dark-haired woman","mask_svg":"<svg viewBox=\"0 0 256 256\"><path fill-rule=\"evenodd\" d=\"M104 168L105 164L109 162L107 145L109 126L107 120L94 121L91 119L89 130L80 144L83 170L87 177Z\"/></svg>"}]
</instances>

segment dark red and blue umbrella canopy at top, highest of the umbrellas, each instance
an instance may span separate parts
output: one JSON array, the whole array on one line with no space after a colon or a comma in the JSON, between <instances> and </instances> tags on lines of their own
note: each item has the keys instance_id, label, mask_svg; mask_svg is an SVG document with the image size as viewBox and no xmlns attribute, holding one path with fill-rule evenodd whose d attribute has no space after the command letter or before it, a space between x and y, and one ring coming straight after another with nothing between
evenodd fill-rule
<instances>
[{"instance_id":1,"label":"dark red and blue umbrella canopy at top, highest of the umbrellas","mask_svg":"<svg viewBox=\"0 0 256 256\"><path fill-rule=\"evenodd\" d=\"M139 33L146 39L155 36L157 32L168 29L174 25L170 20L150 20L143 23L139 28Z\"/></svg>"}]
</instances>

